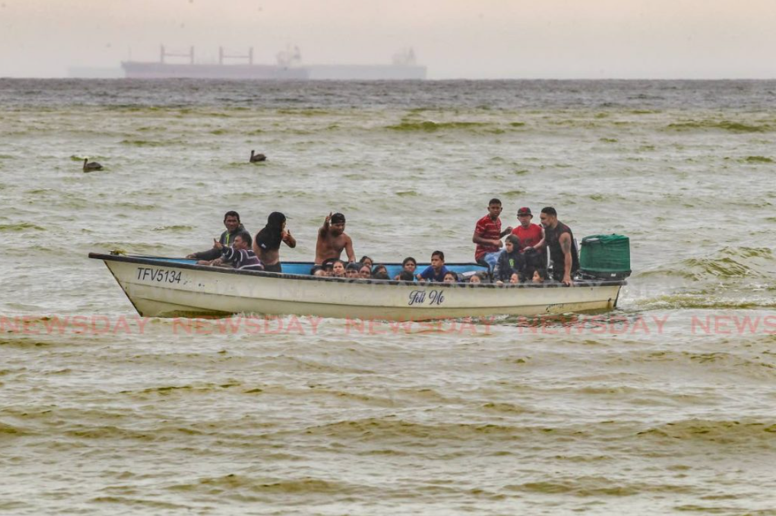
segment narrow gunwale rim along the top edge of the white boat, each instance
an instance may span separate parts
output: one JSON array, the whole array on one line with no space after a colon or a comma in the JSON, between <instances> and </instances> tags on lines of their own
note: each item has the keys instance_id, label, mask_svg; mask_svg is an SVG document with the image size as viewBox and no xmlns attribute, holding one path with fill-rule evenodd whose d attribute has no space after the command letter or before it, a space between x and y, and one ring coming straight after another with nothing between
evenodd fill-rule
<instances>
[{"instance_id":1,"label":"narrow gunwale rim along the top edge of the white boat","mask_svg":"<svg viewBox=\"0 0 776 516\"><path fill-rule=\"evenodd\" d=\"M338 282L338 283L355 283L357 285L377 285L377 286L410 286L412 283L402 281L399 279L362 279L362 278L334 278L332 276L314 276L314 275L303 275L303 274L287 274L283 272L267 272L267 271L241 271L234 268L223 268L223 267L213 267L210 265L196 265L196 264L188 264L188 263L180 263L178 261L172 261L172 260L180 260L182 258L168 258L168 257L154 257L154 258L137 258L134 256L121 256L121 255L105 255L103 253L93 253L90 252L88 254L88 258L94 258L96 260L102 260L102 261L122 261L124 263L137 263L142 265L157 265L161 267L168 267L168 268L183 268L183 269L189 269L194 271L202 271L202 272L220 272L222 274L237 274L237 275L248 275L251 277L264 277L264 278L270 278L270 279L300 279L304 281L318 281L318 282ZM165 261L165 260L171 260L171 261ZM307 263L303 261L287 261L286 263ZM388 265L397 265L397 264L388 264ZM459 264L459 263L450 263L445 265L480 265L480 264L471 264L471 263L465 263L465 264ZM558 289L558 288L564 288L566 285L563 285L563 283L558 282L548 282L548 283L469 283L469 282L456 282L456 283L444 283L444 282L416 282L414 285L416 286L427 286L428 284L431 284L435 287L444 286L449 288L485 288L485 289ZM594 286L624 286L627 285L628 282L626 282L624 279L619 280L605 280L601 279L600 281L592 281L589 279L580 279L576 280L571 288L579 288L579 287L594 287Z\"/></svg>"}]
</instances>

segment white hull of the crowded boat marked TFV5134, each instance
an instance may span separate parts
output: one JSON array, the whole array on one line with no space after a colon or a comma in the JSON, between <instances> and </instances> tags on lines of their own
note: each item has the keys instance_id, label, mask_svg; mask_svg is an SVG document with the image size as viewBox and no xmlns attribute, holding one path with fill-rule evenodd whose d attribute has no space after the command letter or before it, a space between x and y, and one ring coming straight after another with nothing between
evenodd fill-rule
<instances>
[{"instance_id":1,"label":"white hull of the crowded boat marked TFV5134","mask_svg":"<svg viewBox=\"0 0 776 516\"><path fill-rule=\"evenodd\" d=\"M195 265L192 260L90 253L105 262L143 317L311 315L365 320L534 316L611 310L624 281L580 281L566 287L492 283L413 283L313 276L310 263L284 262L290 273ZM400 268L389 266L389 273ZM457 272L479 265L447 264ZM419 267L419 270L420 267Z\"/></svg>"}]
</instances>

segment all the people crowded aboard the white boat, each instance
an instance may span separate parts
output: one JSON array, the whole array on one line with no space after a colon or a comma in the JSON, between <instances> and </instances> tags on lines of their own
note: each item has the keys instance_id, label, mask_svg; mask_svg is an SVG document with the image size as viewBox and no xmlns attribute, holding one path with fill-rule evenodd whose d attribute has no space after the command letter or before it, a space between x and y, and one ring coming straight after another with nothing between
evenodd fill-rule
<instances>
[{"instance_id":1,"label":"all the people crowded aboard the white boat","mask_svg":"<svg viewBox=\"0 0 776 516\"><path fill-rule=\"evenodd\" d=\"M490 199L488 213L477 220L472 237L476 244L475 261L487 267L487 272L462 275L445 267L442 251L431 254L431 265L418 272L417 260L404 258L402 269L393 278L385 265L375 264L369 256L355 259L353 241L345 234L345 215L329 213L318 229L314 266L310 274L349 279L396 279L407 282L546 282L553 279L572 284L572 275L579 268L573 234L559 222L556 210L547 206L540 214L541 226L532 223L533 214L527 207L518 210L518 227L501 229L502 205ZM296 247L296 239L286 228L283 213L270 213L267 224L254 238L245 229L235 211L223 217L226 230L213 240L213 248L188 255L199 265L223 266L248 271L282 272L280 246ZM505 238L504 238L505 237ZM502 241L502 239L504 239ZM345 251L347 261L341 259ZM548 275L548 251L551 275Z\"/></svg>"}]
</instances>

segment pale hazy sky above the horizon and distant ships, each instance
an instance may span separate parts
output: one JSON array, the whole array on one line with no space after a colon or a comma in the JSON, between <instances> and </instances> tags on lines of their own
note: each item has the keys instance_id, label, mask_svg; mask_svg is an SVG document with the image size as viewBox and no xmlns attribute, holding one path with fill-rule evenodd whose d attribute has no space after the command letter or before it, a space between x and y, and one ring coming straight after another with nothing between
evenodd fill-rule
<instances>
[{"instance_id":1,"label":"pale hazy sky above the horizon and distant ships","mask_svg":"<svg viewBox=\"0 0 776 516\"><path fill-rule=\"evenodd\" d=\"M158 60L159 45L428 78L776 78L776 0L0 0L0 77Z\"/></svg>"}]
</instances>

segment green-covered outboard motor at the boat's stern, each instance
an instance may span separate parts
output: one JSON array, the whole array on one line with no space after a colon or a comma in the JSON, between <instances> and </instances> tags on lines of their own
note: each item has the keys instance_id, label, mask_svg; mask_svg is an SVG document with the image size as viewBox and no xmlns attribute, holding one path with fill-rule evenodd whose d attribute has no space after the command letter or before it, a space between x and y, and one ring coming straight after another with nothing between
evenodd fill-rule
<instances>
[{"instance_id":1,"label":"green-covered outboard motor at the boat's stern","mask_svg":"<svg viewBox=\"0 0 776 516\"><path fill-rule=\"evenodd\" d=\"M621 234L594 234L582 239L580 275L590 279L625 279L631 273L630 240Z\"/></svg>"}]
</instances>

